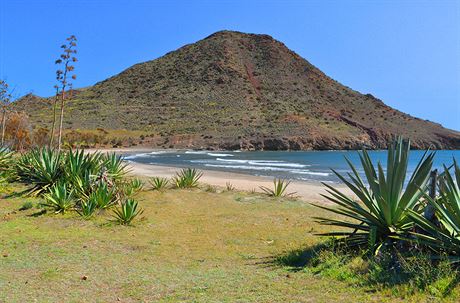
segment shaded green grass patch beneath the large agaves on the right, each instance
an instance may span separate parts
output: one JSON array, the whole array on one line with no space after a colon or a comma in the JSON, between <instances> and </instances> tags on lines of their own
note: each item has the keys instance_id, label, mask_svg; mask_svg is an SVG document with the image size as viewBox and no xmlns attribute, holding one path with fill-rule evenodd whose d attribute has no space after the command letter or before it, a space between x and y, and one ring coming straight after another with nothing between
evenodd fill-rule
<instances>
[{"instance_id":1,"label":"shaded green grass patch beneath the large agaves on the right","mask_svg":"<svg viewBox=\"0 0 460 303\"><path fill-rule=\"evenodd\" d=\"M391 251L376 258L333 241L287 251L258 264L293 272L306 270L313 275L364 287L369 292L391 289L401 296L419 292L444 298L454 291L458 295L460 284L459 268L450 264L448 258L434 261L426 251L404 255Z\"/></svg>"}]
</instances>

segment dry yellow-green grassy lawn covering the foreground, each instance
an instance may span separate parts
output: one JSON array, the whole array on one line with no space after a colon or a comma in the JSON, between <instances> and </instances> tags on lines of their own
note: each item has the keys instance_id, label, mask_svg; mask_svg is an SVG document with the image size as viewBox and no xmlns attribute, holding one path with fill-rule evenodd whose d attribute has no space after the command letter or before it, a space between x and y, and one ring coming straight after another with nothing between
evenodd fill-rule
<instances>
[{"instance_id":1,"label":"dry yellow-green grassy lawn covering the foreground","mask_svg":"<svg viewBox=\"0 0 460 303\"><path fill-rule=\"evenodd\" d=\"M437 301L279 265L321 241L322 211L305 202L199 189L138 200L145 212L125 227L110 212L31 216L18 209L38 199L0 199L0 302Z\"/></svg>"}]
</instances>

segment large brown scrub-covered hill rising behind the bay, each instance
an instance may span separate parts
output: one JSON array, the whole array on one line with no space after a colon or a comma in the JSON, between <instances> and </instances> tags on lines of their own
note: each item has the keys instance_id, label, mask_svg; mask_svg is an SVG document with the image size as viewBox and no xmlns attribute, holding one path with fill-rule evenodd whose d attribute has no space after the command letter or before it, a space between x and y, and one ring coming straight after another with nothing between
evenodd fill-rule
<instances>
[{"instance_id":1,"label":"large brown scrub-covered hill rising behind the bay","mask_svg":"<svg viewBox=\"0 0 460 303\"><path fill-rule=\"evenodd\" d=\"M27 95L15 108L48 126L51 101ZM142 131L139 143L165 148L383 148L392 134L460 148L458 132L343 86L268 35L233 31L76 90L65 127Z\"/></svg>"}]
</instances>

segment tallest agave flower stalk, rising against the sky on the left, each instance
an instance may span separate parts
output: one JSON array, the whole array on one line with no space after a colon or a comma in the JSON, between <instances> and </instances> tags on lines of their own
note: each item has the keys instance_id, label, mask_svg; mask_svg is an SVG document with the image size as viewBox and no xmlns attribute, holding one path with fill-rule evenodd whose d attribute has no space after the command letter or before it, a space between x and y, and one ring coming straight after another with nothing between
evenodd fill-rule
<instances>
[{"instance_id":1,"label":"tallest agave flower stalk, rising against the sky on the left","mask_svg":"<svg viewBox=\"0 0 460 303\"><path fill-rule=\"evenodd\" d=\"M72 89L72 83L70 79L75 80L77 76L74 74L75 67L72 65L73 62L77 62L75 54L77 50L77 38L71 35L66 39L66 43L61 45L62 54L59 59L56 60L56 64L62 66L62 68L56 71L56 79L58 80L58 87L56 88L57 93L61 99L61 114L59 118L59 136L58 136L58 150L61 150L62 144L62 125L64 121L64 106L66 100L66 88ZM54 132L54 130L52 130ZM53 137L53 133L51 134Z\"/></svg>"}]
</instances>

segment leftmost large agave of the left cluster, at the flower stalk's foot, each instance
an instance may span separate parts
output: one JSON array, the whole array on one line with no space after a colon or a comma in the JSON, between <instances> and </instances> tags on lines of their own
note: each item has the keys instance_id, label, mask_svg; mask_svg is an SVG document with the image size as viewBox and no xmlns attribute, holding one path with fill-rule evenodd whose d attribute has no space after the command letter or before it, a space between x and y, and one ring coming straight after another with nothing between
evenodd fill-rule
<instances>
[{"instance_id":1,"label":"leftmost large agave of the left cluster, at the flower stalk's foot","mask_svg":"<svg viewBox=\"0 0 460 303\"><path fill-rule=\"evenodd\" d=\"M29 193L38 195L53 186L63 175L62 153L49 148L35 149L19 158L20 180L33 184Z\"/></svg>"}]
</instances>

